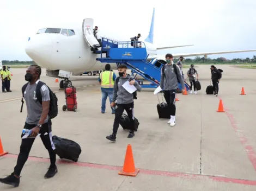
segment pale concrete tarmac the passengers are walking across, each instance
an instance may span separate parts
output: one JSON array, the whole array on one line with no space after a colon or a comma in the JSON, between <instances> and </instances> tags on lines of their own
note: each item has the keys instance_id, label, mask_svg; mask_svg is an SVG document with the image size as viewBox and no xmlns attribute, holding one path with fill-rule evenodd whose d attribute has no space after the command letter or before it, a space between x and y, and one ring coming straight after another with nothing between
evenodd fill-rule
<instances>
[{"instance_id":1,"label":"pale concrete tarmac the passengers are walking across","mask_svg":"<svg viewBox=\"0 0 256 191\"><path fill-rule=\"evenodd\" d=\"M198 94L178 94L176 125L159 119L159 103L154 90L138 92L135 117L139 120L135 137L127 138L121 126L117 141L105 137L112 133L114 115L107 100L101 113L101 91L98 76L72 78L77 87L77 112L62 111L65 95L54 78L41 81L58 97L59 114L52 120L53 135L80 144L78 162L60 160L58 173L44 179L50 165L48 152L36 138L16 190L256 190L256 70L220 65L223 69L219 96L206 95L210 84L210 65L198 66L202 90ZM187 69L183 69L186 73ZM26 69L12 69L11 93L0 93L0 136L9 154L0 157L0 177L13 172L26 120L26 106L20 113L21 87L26 83ZM241 88L246 95L240 95ZM161 96L159 97L162 99ZM220 99L225 112L217 112ZM131 144L136 177L118 175L123 167L127 144ZM11 186L0 184L0 190Z\"/></svg>"}]
</instances>

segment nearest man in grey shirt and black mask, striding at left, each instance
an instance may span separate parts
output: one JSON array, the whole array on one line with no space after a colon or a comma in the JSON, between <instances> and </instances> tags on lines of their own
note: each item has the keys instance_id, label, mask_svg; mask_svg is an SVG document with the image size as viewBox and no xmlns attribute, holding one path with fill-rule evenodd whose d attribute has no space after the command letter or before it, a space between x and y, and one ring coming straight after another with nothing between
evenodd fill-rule
<instances>
[{"instance_id":1,"label":"nearest man in grey shirt and black mask, striding at left","mask_svg":"<svg viewBox=\"0 0 256 191\"><path fill-rule=\"evenodd\" d=\"M38 65L31 65L27 69L25 80L29 83L23 86L25 87L24 98L27 105L27 119L25 122L24 129L32 131L32 138L21 139L20 153L17 158L17 164L14 168L14 172L11 175L0 179L0 182L10 184L18 187L20 184L20 174L23 166L25 165L29 152L35 141L35 137L40 133L40 138L45 148L48 150L50 155L51 165L48 168L45 178L53 177L57 173L56 167L56 154L54 152L54 144L52 142L52 131L51 131L51 119L48 117L50 107L50 91L44 84L40 88L41 103L38 101L36 96L36 86L41 82L39 80L41 75L41 68ZM40 86L39 86L40 87ZM23 89L23 88L22 88ZM23 92L23 91L22 91ZM23 135L21 135L23 137Z\"/></svg>"}]
</instances>

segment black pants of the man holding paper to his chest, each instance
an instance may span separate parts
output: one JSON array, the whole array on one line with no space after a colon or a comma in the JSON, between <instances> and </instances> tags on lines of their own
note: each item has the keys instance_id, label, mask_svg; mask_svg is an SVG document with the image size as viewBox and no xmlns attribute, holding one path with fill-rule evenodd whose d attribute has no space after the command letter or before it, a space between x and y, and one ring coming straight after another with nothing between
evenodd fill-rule
<instances>
[{"instance_id":1,"label":"black pants of the man holding paper to his chest","mask_svg":"<svg viewBox=\"0 0 256 191\"><path fill-rule=\"evenodd\" d=\"M130 119L131 131L134 131L134 103L132 102L130 104L117 104L117 107L115 107L113 134L117 134L117 130L120 124L120 119L122 114L124 113L124 110L127 112L127 116Z\"/></svg>"}]
</instances>

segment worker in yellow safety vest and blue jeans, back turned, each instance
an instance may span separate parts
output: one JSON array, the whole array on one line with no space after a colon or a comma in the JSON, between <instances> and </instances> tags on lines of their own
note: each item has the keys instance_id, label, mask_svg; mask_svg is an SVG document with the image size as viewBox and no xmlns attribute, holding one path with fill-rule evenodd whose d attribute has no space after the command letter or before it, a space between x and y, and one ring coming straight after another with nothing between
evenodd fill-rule
<instances>
[{"instance_id":1,"label":"worker in yellow safety vest and blue jeans, back turned","mask_svg":"<svg viewBox=\"0 0 256 191\"><path fill-rule=\"evenodd\" d=\"M109 98L109 102L111 104L113 99L113 91L114 91L114 81L117 76L113 71L110 71L109 63L105 66L105 71L100 73L99 82L101 84L101 113L105 113L106 110L106 100ZM115 114L114 107L111 107L112 114Z\"/></svg>"}]
</instances>

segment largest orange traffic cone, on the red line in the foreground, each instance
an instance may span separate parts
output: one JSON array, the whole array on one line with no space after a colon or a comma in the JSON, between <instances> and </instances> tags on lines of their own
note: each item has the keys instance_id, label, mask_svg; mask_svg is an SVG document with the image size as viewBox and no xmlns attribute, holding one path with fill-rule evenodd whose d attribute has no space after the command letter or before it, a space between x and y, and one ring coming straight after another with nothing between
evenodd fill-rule
<instances>
[{"instance_id":1,"label":"largest orange traffic cone, on the red line in the foreground","mask_svg":"<svg viewBox=\"0 0 256 191\"><path fill-rule=\"evenodd\" d=\"M131 145L127 145L126 155L124 160L124 167L121 171L118 172L119 175L125 176L136 176L139 172L139 169L135 168L133 154L132 154L132 147Z\"/></svg>"}]
</instances>

